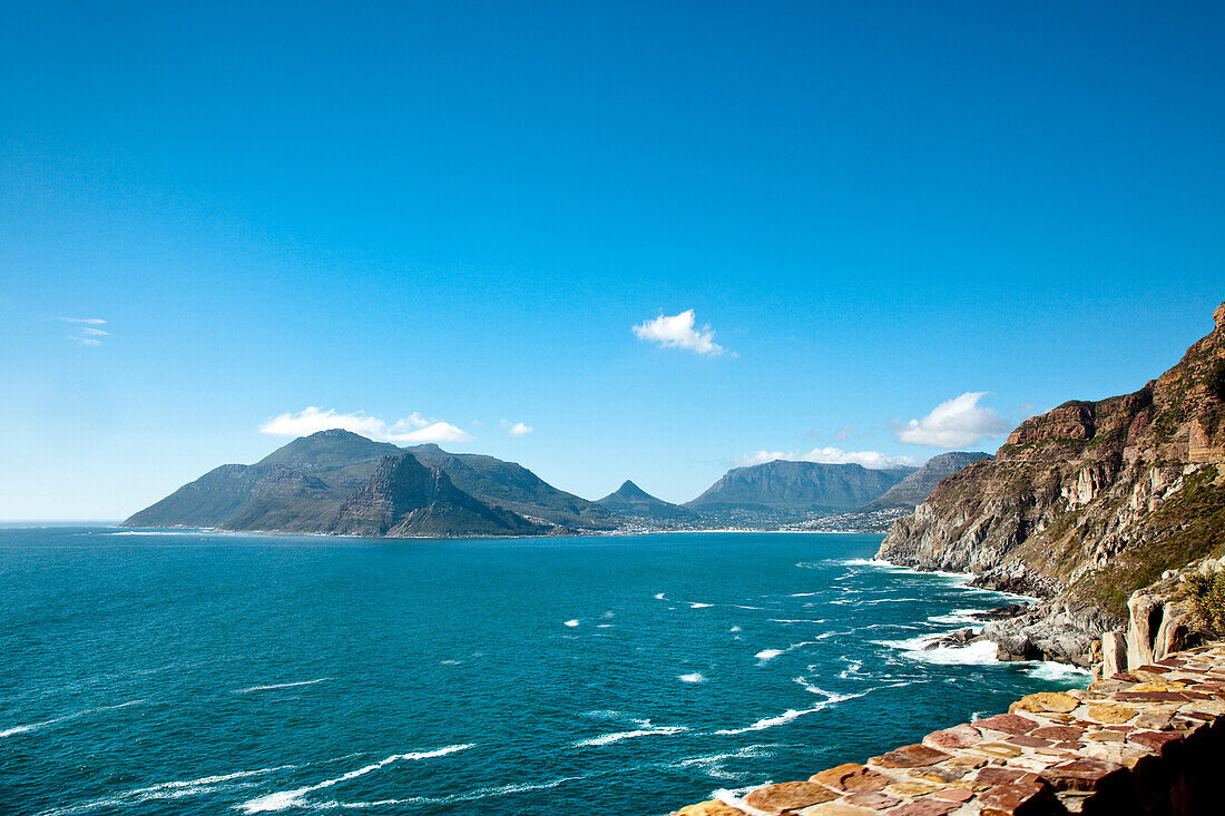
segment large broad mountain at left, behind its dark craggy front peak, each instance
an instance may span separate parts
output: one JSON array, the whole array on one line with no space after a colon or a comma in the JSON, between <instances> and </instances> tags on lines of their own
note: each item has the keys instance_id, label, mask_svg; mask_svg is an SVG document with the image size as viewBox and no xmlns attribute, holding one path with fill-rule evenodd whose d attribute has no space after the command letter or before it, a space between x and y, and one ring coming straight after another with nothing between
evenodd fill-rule
<instances>
[{"instance_id":1,"label":"large broad mountain at left, behind its dark craggy front peak","mask_svg":"<svg viewBox=\"0 0 1225 816\"><path fill-rule=\"evenodd\" d=\"M619 522L611 511L557 490L512 462L447 453L436 445L402 448L334 429L296 439L255 464L214 468L135 513L124 526L330 532L342 506L366 485L382 459L405 453L426 468L440 469L452 488L483 505L517 518L529 516L537 532L543 527L559 532L610 529ZM474 531L484 528L485 522L469 521L474 524L470 531L447 534L477 534ZM424 522L414 523L420 529Z\"/></svg>"}]
</instances>

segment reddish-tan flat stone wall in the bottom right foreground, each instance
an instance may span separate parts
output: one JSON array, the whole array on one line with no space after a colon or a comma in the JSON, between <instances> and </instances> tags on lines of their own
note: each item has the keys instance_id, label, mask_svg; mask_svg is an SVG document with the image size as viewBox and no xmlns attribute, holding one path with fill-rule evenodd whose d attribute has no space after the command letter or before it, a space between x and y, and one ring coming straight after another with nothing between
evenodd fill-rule
<instances>
[{"instance_id":1,"label":"reddish-tan flat stone wall in the bottom right foreground","mask_svg":"<svg viewBox=\"0 0 1225 816\"><path fill-rule=\"evenodd\" d=\"M1137 604L1134 615L1152 610ZM1160 630L1155 616L1145 620ZM1122 638L1114 648L1126 655L1132 644ZM1142 640L1136 646L1148 653ZM1225 814L1223 766L1225 646L1216 644L1154 658L1084 691L1029 695L1007 714L935 731L865 765L674 816L1204 816Z\"/></svg>"}]
</instances>

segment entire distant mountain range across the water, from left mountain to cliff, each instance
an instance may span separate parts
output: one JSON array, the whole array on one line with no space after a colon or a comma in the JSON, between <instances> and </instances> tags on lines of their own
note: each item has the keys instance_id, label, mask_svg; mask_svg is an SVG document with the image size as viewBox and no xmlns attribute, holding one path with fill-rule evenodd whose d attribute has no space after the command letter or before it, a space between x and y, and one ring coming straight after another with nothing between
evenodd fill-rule
<instances>
[{"instance_id":1,"label":"entire distant mountain range across the water, from left mountain to cliff","mask_svg":"<svg viewBox=\"0 0 1225 816\"><path fill-rule=\"evenodd\" d=\"M554 488L513 462L399 447L333 429L295 439L255 464L223 464L132 515L129 527L353 535L535 535L659 527L778 526L884 502L913 507L957 466L924 468L774 461L735 468L686 505L626 480L595 501Z\"/></svg>"}]
</instances>

